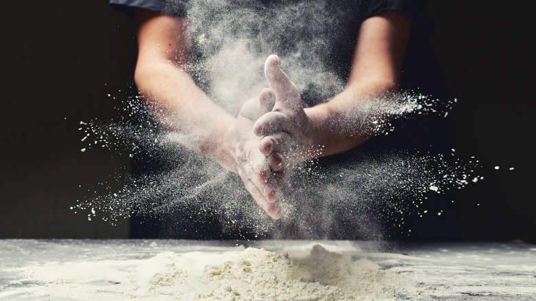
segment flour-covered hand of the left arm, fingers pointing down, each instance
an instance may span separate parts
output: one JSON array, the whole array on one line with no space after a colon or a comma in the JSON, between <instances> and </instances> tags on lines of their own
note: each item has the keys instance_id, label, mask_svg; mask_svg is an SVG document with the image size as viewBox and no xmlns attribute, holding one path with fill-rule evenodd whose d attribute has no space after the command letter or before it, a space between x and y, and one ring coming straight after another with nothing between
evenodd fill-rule
<instances>
[{"instance_id":1,"label":"flour-covered hand of the left arm, fingers pointing down","mask_svg":"<svg viewBox=\"0 0 536 301\"><path fill-rule=\"evenodd\" d=\"M258 98L245 102L236 118L236 168L244 185L255 201L273 219L281 216L278 203L278 180L270 171L268 159L260 152L262 137L254 134L253 124L263 114L271 111L276 98L270 89L264 89Z\"/></svg>"}]
</instances>

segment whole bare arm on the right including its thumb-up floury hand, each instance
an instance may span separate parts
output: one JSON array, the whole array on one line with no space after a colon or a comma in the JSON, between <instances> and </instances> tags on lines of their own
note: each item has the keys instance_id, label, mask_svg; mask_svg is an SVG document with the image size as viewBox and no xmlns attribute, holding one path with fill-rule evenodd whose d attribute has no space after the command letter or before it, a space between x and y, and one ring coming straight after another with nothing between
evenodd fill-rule
<instances>
[{"instance_id":1,"label":"whole bare arm on the right including its thumb-up floury hand","mask_svg":"<svg viewBox=\"0 0 536 301\"><path fill-rule=\"evenodd\" d=\"M333 99L303 109L300 93L270 56L265 75L276 96L273 111L254 126L259 146L269 156L276 178L284 179L299 161L341 153L368 140L359 111L374 98L399 89L411 23L402 12L386 12L364 21L346 89ZM278 179L278 181L281 181Z\"/></svg>"}]
</instances>

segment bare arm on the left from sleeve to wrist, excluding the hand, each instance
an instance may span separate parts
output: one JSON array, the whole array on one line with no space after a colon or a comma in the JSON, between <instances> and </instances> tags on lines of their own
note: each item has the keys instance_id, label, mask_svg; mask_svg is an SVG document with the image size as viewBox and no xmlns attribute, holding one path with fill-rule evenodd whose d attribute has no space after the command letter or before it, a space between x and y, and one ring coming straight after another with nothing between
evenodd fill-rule
<instances>
[{"instance_id":1,"label":"bare arm on the left from sleeve to wrist, excluding the hand","mask_svg":"<svg viewBox=\"0 0 536 301\"><path fill-rule=\"evenodd\" d=\"M235 118L210 101L185 68L192 60L188 21L139 9L136 23L135 82L146 102L161 124L188 137L190 148L237 172Z\"/></svg>"}]
</instances>

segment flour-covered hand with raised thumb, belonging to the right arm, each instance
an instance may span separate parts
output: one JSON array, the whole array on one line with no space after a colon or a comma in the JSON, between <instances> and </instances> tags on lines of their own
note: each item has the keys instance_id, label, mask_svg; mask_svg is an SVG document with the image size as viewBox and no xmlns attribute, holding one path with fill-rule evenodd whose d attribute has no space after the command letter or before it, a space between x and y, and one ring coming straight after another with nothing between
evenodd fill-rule
<instances>
[{"instance_id":1,"label":"flour-covered hand with raised thumb, belonging to the right arm","mask_svg":"<svg viewBox=\"0 0 536 301\"><path fill-rule=\"evenodd\" d=\"M300 91L279 65L276 55L266 60L265 76L276 103L253 127L254 133L263 137L260 153L268 157L268 165L282 186L293 166L312 157L314 150L309 139L311 122L300 100Z\"/></svg>"}]
</instances>

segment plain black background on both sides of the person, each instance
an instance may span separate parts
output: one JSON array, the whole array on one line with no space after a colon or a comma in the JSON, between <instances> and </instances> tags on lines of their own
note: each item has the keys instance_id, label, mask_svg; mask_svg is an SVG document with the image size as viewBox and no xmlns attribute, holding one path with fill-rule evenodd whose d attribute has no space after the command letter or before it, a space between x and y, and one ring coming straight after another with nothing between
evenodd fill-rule
<instances>
[{"instance_id":1,"label":"plain black background on both sides of the person","mask_svg":"<svg viewBox=\"0 0 536 301\"><path fill-rule=\"evenodd\" d=\"M535 10L532 0L430 1L433 47L458 98L456 155L480 159L484 181L459 190L442 217L414 221L413 238L536 243ZM0 238L128 237L128 220L69 208L129 172L109 150L80 152L78 128L113 118L126 99L133 21L106 0L1 1L0 16Z\"/></svg>"}]
</instances>

